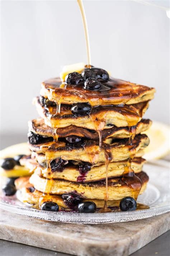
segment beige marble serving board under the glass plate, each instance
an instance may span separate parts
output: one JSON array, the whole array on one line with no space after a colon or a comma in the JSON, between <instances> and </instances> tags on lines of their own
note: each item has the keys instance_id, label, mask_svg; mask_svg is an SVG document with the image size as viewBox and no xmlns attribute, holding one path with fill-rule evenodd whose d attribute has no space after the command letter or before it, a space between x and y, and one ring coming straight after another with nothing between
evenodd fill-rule
<instances>
[{"instance_id":1,"label":"beige marble serving board under the glass plate","mask_svg":"<svg viewBox=\"0 0 170 256\"><path fill-rule=\"evenodd\" d=\"M170 214L113 224L67 224L0 210L0 239L73 255L125 256L170 229Z\"/></svg>"}]
</instances>

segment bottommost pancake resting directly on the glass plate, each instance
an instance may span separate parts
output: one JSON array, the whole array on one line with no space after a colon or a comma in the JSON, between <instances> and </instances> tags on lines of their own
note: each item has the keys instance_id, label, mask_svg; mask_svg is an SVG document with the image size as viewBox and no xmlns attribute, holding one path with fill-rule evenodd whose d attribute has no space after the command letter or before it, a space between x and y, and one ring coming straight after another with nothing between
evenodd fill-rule
<instances>
[{"instance_id":1,"label":"bottommost pancake resting directly on the glass plate","mask_svg":"<svg viewBox=\"0 0 170 256\"><path fill-rule=\"evenodd\" d=\"M63 199L61 195L43 195L42 192L34 189L33 185L29 183L29 177L18 178L15 180L16 189L20 192L18 199L23 203L32 204L35 207L39 207L44 202L54 202L59 206L59 210L70 211L76 210L76 207L70 204L66 199ZM31 188L31 189L30 189ZM33 191L33 192L31 192ZM96 204L97 208L103 208L104 200L98 199L82 199L82 202L92 201ZM120 200L108 200L108 207L119 207Z\"/></svg>"}]
</instances>

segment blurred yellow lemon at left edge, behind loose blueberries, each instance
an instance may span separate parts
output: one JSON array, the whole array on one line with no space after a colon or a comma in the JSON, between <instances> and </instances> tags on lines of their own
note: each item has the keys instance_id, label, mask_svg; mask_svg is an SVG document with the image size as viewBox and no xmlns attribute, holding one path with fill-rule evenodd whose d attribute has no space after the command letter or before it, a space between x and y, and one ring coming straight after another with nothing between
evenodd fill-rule
<instances>
[{"instance_id":1,"label":"blurred yellow lemon at left edge, behind loose blueberries","mask_svg":"<svg viewBox=\"0 0 170 256\"><path fill-rule=\"evenodd\" d=\"M0 151L0 158L14 157L15 155L30 155L27 142L15 144ZM12 178L30 175L30 170L24 166L15 165L11 170L0 168L0 176Z\"/></svg>"}]
</instances>

